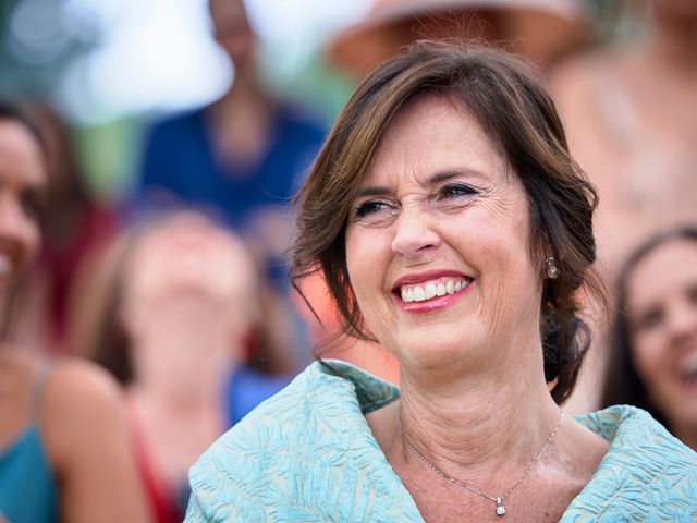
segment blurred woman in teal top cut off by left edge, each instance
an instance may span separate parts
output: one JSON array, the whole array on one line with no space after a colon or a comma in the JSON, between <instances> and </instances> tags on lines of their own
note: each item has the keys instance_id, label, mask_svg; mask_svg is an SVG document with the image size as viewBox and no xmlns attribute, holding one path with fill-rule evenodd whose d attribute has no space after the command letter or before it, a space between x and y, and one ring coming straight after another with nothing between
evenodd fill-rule
<instances>
[{"instance_id":1,"label":"blurred woman in teal top cut off by left edge","mask_svg":"<svg viewBox=\"0 0 697 523\"><path fill-rule=\"evenodd\" d=\"M144 522L118 389L86 363L13 346L13 297L36 259L48 190L36 127L0 105L0 521Z\"/></svg>"}]
</instances>

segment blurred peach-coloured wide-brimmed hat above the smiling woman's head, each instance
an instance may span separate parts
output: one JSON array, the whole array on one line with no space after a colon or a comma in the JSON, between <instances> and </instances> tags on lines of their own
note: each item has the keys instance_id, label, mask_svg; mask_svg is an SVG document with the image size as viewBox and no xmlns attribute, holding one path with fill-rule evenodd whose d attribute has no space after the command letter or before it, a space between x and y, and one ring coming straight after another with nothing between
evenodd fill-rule
<instances>
[{"instance_id":1,"label":"blurred peach-coloured wide-brimmed hat above the smiling woman's head","mask_svg":"<svg viewBox=\"0 0 697 523\"><path fill-rule=\"evenodd\" d=\"M579 0L376 0L366 17L327 45L329 63L363 77L420 38L501 42L547 65L584 35Z\"/></svg>"}]
</instances>

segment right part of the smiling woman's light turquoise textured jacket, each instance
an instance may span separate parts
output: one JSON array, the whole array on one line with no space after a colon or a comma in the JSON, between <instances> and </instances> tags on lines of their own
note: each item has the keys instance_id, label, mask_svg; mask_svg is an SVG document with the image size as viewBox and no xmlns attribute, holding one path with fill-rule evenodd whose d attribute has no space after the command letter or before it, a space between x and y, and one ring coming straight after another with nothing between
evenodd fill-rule
<instances>
[{"instance_id":1,"label":"right part of the smiling woman's light turquoise textured jacket","mask_svg":"<svg viewBox=\"0 0 697 523\"><path fill-rule=\"evenodd\" d=\"M577 421L607 439L610 449L562 521L695 521L694 451L634 406L614 405Z\"/></svg>"}]
</instances>

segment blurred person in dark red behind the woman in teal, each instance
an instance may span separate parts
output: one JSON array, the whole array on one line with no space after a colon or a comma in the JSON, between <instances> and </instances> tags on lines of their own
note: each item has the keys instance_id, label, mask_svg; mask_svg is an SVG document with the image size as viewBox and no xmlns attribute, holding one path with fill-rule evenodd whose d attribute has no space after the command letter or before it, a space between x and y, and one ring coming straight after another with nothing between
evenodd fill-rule
<instances>
[{"instance_id":1,"label":"blurred person in dark red behind the woman in teal","mask_svg":"<svg viewBox=\"0 0 697 523\"><path fill-rule=\"evenodd\" d=\"M48 205L41 254L19 299L17 336L57 354L66 351L70 338L75 279L115 234L118 223L85 186L68 123L45 104L33 104L29 110L46 144Z\"/></svg>"}]
</instances>

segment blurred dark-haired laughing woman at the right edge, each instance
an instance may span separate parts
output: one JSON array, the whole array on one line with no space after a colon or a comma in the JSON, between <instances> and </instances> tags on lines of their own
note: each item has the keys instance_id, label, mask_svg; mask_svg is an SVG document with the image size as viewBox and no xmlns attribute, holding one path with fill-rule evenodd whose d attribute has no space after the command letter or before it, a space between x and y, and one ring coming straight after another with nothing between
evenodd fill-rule
<instances>
[{"instance_id":1,"label":"blurred dark-haired laughing woman at the right edge","mask_svg":"<svg viewBox=\"0 0 697 523\"><path fill-rule=\"evenodd\" d=\"M644 244L617 292L603 403L646 409L697 450L697 227Z\"/></svg>"}]
</instances>

